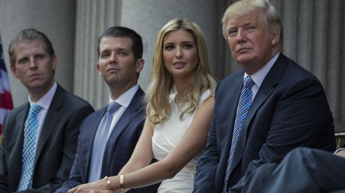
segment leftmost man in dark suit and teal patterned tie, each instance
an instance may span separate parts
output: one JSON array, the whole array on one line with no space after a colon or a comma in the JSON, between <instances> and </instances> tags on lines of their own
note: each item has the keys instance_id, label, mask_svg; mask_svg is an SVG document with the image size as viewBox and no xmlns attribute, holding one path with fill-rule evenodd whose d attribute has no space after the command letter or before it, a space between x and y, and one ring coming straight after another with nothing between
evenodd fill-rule
<instances>
[{"instance_id":1,"label":"leftmost man in dark suit and teal patterned tie","mask_svg":"<svg viewBox=\"0 0 345 193\"><path fill-rule=\"evenodd\" d=\"M57 59L42 32L21 31L11 41L9 53L10 69L28 89L29 102L10 111L3 122L0 192L54 192L68 179L79 126L93 109L55 82ZM26 141L30 132L25 123L33 105L42 109L38 114L39 126L31 132L36 133L35 144L29 146ZM26 150L28 147L32 149ZM31 165L24 161L28 159L25 152L32 155ZM26 166L33 169L28 172L24 170Z\"/></svg>"}]
</instances>

